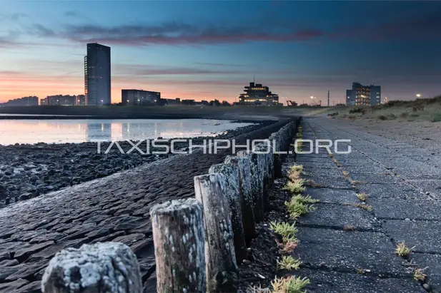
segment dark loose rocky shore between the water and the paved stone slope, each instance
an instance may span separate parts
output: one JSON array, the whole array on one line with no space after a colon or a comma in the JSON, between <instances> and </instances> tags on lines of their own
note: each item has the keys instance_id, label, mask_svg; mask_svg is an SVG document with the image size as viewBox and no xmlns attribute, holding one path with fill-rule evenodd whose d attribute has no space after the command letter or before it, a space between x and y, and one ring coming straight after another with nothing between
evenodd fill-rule
<instances>
[{"instance_id":1,"label":"dark loose rocky shore between the water and the paved stone slope","mask_svg":"<svg viewBox=\"0 0 441 293\"><path fill-rule=\"evenodd\" d=\"M217 135L216 138L232 138L272 123L274 121L266 121L229 130ZM192 138L192 143L202 144L203 140L209 138L213 137ZM150 154L141 154L136 149L127 154L133 145L125 141L120 142L119 145L126 154L122 154L116 144L109 153L105 153L109 144L100 144L101 153L98 153L98 143L0 145L0 207L173 155L152 154L154 150L164 149L153 148L151 145ZM169 144L169 140L167 143L161 143L161 145ZM139 149L144 153L146 148L146 141L139 145ZM175 148L185 150L188 148L188 143L175 143Z\"/></svg>"}]
</instances>

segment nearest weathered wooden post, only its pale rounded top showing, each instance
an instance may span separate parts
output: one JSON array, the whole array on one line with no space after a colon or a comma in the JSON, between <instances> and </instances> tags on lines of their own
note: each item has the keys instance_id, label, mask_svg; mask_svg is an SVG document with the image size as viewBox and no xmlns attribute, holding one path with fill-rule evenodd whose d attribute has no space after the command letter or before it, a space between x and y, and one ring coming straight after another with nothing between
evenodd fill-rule
<instances>
[{"instance_id":1,"label":"nearest weathered wooden post, only its pale rounded top showing","mask_svg":"<svg viewBox=\"0 0 441 293\"><path fill-rule=\"evenodd\" d=\"M57 252L41 279L43 293L142 293L137 257L127 245L104 242Z\"/></svg>"}]
</instances>

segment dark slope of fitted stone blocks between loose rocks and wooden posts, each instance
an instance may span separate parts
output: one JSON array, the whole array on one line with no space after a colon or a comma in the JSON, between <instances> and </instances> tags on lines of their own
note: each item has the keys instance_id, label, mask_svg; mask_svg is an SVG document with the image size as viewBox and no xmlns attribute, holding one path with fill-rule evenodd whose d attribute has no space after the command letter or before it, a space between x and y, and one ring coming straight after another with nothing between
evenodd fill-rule
<instances>
[{"instance_id":1,"label":"dark slope of fitted stone blocks between loose rocks and wooden posts","mask_svg":"<svg viewBox=\"0 0 441 293\"><path fill-rule=\"evenodd\" d=\"M273 123L235 139L244 144L247 139L268 138L284 124ZM39 292L36 283L56 252L108 241L131 247L145 282L155 269L150 207L194 196L193 177L208 173L229 153L175 155L4 207L0 292Z\"/></svg>"}]
</instances>

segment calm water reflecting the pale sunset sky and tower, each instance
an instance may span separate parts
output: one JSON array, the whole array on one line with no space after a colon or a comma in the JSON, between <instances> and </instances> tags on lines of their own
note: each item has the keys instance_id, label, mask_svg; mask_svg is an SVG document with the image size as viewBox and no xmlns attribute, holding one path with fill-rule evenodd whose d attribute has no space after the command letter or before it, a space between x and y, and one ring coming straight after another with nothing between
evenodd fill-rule
<instances>
[{"instance_id":1,"label":"calm water reflecting the pale sunset sky and tower","mask_svg":"<svg viewBox=\"0 0 441 293\"><path fill-rule=\"evenodd\" d=\"M0 144L190 138L251 124L202 119L0 120Z\"/></svg>"}]
</instances>

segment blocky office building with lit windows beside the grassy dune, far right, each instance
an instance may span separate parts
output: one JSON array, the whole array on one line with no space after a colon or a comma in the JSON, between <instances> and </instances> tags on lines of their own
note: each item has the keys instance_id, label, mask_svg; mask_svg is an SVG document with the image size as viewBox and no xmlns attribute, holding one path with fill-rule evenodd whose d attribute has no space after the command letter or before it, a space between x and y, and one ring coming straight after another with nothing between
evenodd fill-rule
<instances>
[{"instance_id":1,"label":"blocky office building with lit windows beside the grassy dune, far right","mask_svg":"<svg viewBox=\"0 0 441 293\"><path fill-rule=\"evenodd\" d=\"M381 86L363 86L352 83L352 89L346 90L346 105L375 106L381 103Z\"/></svg>"}]
</instances>

